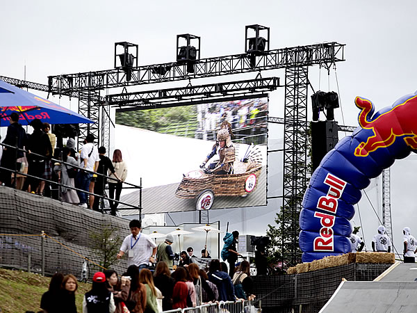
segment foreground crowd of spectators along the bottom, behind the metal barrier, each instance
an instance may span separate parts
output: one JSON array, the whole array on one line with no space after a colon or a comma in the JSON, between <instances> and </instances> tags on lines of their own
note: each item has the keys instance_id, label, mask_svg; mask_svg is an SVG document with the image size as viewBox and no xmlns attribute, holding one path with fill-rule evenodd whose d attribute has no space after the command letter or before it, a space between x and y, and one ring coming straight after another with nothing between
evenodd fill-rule
<instances>
[{"instance_id":1,"label":"foreground crowd of spectators along the bottom, behind the metal barrier","mask_svg":"<svg viewBox=\"0 0 417 313\"><path fill-rule=\"evenodd\" d=\"M208 273L194 263L170 271L165 262L158 262L153 273L136 265L129 266L121 277L112 269L97 272L90 291L83 296L83 313L122 313L125 307L133 313L158 313L221 300L254 298L247 261L236 268L233 280L220 266L220 261L213 259ZM55 273L40 300L40 312L76 313L77 288L74 275Z\"/></svg>"}]
</instances>

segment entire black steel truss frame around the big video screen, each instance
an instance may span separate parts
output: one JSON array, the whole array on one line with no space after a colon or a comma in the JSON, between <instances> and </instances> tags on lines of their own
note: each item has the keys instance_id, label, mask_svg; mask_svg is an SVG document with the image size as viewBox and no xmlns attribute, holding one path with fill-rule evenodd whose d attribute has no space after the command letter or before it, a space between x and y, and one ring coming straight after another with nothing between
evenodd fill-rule
<instances>
[{"instance_id":1,"label":"entire black steel truss frame around the big video screen","mask_svg":"<svg viewBox=\"0 0 417 313\"><path fill-rule=\"evenodd\" d=\"M250 54L205 58L195 61L195 64L193 64L194 71L192 73L187 71L188 64L186 63L165 63L133 67L129 70L129 79L126 79L128 76L126 75L127 73L120 69L56 75L49 77L49 86L47 90L43 91L70 97L79 97L79 113L97 122L97 125L100 125L102 130L111 123L110 120L106 120L106 118L108 118L108 115L106 114L108 111L106 110L108 110L109 106L112 106L113 103L110 101L106 102L106 99L100 97L101 90L106 90L107 93L109 89L115 87L127 88L129 86L138 86L149 83L215 77L245 72L261 72L262 70L285 69L284 220L281 224L281 230L284 234L283 238L286 238L286 240L282 242L283 264L285 267L288 267L293 266L300 261L300 249L298 248L298 215L300 214L302 195L306 189L307 181L306 103L307 86L309 84L308 67L311 65L321 65L329 68L338 61L344 61L344 46L345 45L337 42L328 42L318 45L260 51L255 58ZM256 81L259 82L261 79L257 79ZM213 92L206 93L205 95L204 90L198 90L198 88L193 90L193 92L199 94L197 97L199 97L201 103L204 101L202 97L213 97L215 96L215 91L217 91L218 95L219 92L224 91L215 90L215 86L224 87L227 86L227 84L230 83L211 85L211 88L214 88L214 90L212 90ZM231 84L234 84L234 88L242 89L242 86L236 85L236 82ZM177 89L177 93L186 93L185 90L185 88L183 88L183 91ZM188 91L189 90L190 89L188 89ZM126 95L120 94L114 95L114 97L111 95L107 97L107 100L113 97L115 102L119 101L119 104L117 104L119 109L122 109L123 106L126 106L125 109L129 109L129 107L131 108L132 106L137 105L145 106L145 108L140 107L140 109L146 109L147 102L161 103L161 100L165 101L168 92L168 89L158 90L158 95L156 95L156 97L155 95L152 95L152 93L145 92L141 95L138 94L136 99L134 99L136 95L131 93L127 97L129 101L133 100L131 103L123 102L126 100ZM253 93L249 88L247 93L251 92ZM221 99L228 101L227 95L220 94L222 95ZM145 95L147 95L146 99L143 98ZM211 101L213 101L213 99L211 99ZM188 97L186 103L171 102L170 105L190 104L192 101L193 97ZM170 102L168 101L167 105L169 105L169 103ZM99 107L105 108L103 109L104 111L101 111L101 114L99 113ZM155 104L152 107L154 108ZM83 129L82 136L85 136L88 131L99 137L99 143L105 146L107 145L106 141L108 138L106 138L106 134L108 133L102 130L101 134L99 134L98 128L87 126ZM201 218L205 219L205 216L202 216Z\"/></svg>"}]
</instances>

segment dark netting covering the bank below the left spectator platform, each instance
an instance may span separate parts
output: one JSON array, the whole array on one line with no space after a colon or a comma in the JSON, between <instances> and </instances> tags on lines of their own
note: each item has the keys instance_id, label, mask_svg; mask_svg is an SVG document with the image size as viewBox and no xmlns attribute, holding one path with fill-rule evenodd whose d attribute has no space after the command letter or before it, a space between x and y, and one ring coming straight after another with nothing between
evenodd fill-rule
<instances>
[{"instance_id":1,"label":"dark netting covering the bank below the left spectator platform","mask_svg":"<svg viewBox=\"0 0 417 313\"><path fill-rule=\"evenodd\" d=\"M129 220L0 187L2 267L29 267L34 273L42 273L44 264L46 275L59 271L81 278L85 264L90 271L99 268L101 259L92 249L92 234L101 234L105 227L115 229L115 236L121 239L129 234ZM111 266L118 273L126 267L124 260Z\"/></svg>"}]
</instances>

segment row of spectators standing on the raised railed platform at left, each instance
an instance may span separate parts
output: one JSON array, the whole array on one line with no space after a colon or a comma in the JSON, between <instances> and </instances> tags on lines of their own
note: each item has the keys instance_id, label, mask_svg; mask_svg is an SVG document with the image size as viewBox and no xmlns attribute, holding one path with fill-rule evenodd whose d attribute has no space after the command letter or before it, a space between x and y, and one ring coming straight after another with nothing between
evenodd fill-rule
<instances>
[{"instance_id":1,"label":"row of spectators standing on the raised railed platform at left","mask_svg":"<svg viewBox=\"0 0 417 313\"><path fill-rule=\"evenodd\" d=\"M127 166L120 150L113 152L111 160L105 155L106 148L97 148L95 136L88 134L77 153L74 138L68 138L65 146L60 144L57 147L62 138L57 141L47 122L32 120L33 132L26 134L19 123L18 113L13 112L9 120L0 161L0 184L101 211L101 198L88 193L104 195L108 183L109 197L120 200L122 184L127 176ZM102 175L108 175L110 179L107 181ZM114 216L117 204L115 201L110 203Z\"/></svg>"}]
</instances>

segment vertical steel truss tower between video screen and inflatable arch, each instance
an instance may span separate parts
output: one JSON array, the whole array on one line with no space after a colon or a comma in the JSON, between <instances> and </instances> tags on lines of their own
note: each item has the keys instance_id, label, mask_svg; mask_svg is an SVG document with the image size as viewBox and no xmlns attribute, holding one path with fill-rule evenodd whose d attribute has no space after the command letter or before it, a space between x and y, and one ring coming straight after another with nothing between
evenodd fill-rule
<instances>
[{"instance_id":1,"label":"vertical steel truss tower between video screen and inflatable arch","mask_svg":"<svg viewBox=\"0 0 417 313\"><path fill-rule=\"evenodd\" d=\"M284 182L281 207L282 264L301 262L298 219L307 185L308 67L288 67L285 72Z\"/></svg>"}]
</instances>

